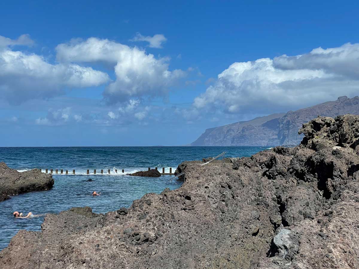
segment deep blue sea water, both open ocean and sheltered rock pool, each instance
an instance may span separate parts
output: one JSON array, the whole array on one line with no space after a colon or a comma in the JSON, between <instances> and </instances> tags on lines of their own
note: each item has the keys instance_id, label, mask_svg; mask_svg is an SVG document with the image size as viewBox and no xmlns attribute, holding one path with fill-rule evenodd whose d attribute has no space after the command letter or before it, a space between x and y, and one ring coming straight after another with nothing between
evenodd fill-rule
<instances>
[{"instance_id":1,"label":"deep blue sea water, both open ocean and sheltered rock pool","mask_svg":"<svg viewBox=\"0 0 359 269\"><path fill-rule=\"evenodd\" d=\"M0 161L18 171L33 168L69 170L71 175L53 175L55 184L49 191L20 194L0 202L0 250L20 229L39 231L43 217L16 219L12 213L59 213L71 207L90 206L93 212L106 213L120 207L129 207L134 199L144 194L160 193L166 187L176 189L180 184L164 182L171 176L139 178L126 173L158 167L172 173L185 160L214 157L226 151L226 157L251 156L266 147L0 147ZM76 174L72 175L75 169ZM97 174L86 175L86 170ZM101 169L104 174L99 174ZM111 169L111 174L107 174ZM118 174L115 174L118 169ZM122 174L121 170L125 173ZM93 182L87 182L88 178ZM92 191L101 192L93 197Z\"/></svg>"}]
</instances>

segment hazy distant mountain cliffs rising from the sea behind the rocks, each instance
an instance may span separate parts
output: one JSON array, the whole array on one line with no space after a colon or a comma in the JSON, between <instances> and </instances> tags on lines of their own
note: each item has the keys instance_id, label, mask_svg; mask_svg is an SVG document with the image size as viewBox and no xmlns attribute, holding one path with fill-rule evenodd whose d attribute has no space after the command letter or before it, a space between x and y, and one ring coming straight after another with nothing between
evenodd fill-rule
<instances>
[{"instance_id":1,"label":"hazy distant mountain cliffs rising from the sea behind the rocks","mask_svg":"<svg viewBox=\"0 0 359 269\"><path fill-rule=\"evenodd\" d=\"M342 114L359 114L358 96L341 96L309 108L210 128L190 146L296 146L302 141L303 135L298 135L298 130L304 123L318 115Z\"/></svg>"}]
</instances>

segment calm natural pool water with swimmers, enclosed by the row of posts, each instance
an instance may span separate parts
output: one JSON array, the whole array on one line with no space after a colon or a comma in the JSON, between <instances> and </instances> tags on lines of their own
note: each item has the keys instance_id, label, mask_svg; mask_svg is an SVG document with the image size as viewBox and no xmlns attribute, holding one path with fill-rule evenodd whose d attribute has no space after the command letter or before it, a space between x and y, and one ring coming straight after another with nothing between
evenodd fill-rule
<instances>
[{"instance_id":1,"label":"calm natural pool water with swimmers, enclosed by the row of posts","mask_svg":"<svg viewBox=\"0 0 359 269\"><path fill-rule=\"evenodd\" d=\"M89 206L95 213L106 213L129 207L134 199L149 192L160 193L164 188L176 189L178 184L164 184L172 176L159 178L127 175L53 175L55 184L48 191L29 192L0 203L0 250L8 246L19 230L40 231L43 217L19 219L14 211L33 214L59 213L71 207ZM91 178L94 181L86 181ZM101 192L93 196L93 191Z\"/></svg>"}]
</instances>

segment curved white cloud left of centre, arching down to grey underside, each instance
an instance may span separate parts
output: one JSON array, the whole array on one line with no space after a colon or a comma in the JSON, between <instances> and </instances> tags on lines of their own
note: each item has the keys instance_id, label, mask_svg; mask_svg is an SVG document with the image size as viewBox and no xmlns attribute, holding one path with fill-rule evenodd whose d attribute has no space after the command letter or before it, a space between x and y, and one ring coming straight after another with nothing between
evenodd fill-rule
<instances>
[{"instance_id":1,"label":"curved white cloud left of centre, arching down to grey underside","mask_svg":"<svg viewBox=\"0 0 359 269\"><path fill-rule=\"evenodd\" d=\"M155 58L137 47L108 39L73 40L56 47L61 63L106 63L114 68L116 80L105 89L108 103L126 102L143 96L166 96L168 87L185 76L182 70L168 70L169 58Z\"/></svg>"}]
</instances>

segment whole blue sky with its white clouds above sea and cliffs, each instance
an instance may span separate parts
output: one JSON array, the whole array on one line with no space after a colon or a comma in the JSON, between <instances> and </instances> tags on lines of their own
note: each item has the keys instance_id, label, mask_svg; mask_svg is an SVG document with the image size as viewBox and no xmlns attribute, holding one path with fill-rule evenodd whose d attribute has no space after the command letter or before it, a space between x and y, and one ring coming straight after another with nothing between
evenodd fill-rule
<instances>
[{"instance_id":1,"label":"whole blue sky with its white clouds above sea and cliffs","mask_svg":"<svg viewBox=\"0 0 359 269\"><path fill-rule=\"evenodd\" d=\"M24 1L0 10L0 146L185 145L358 95L358 4Z\"/></svg>"}]
</instances>

